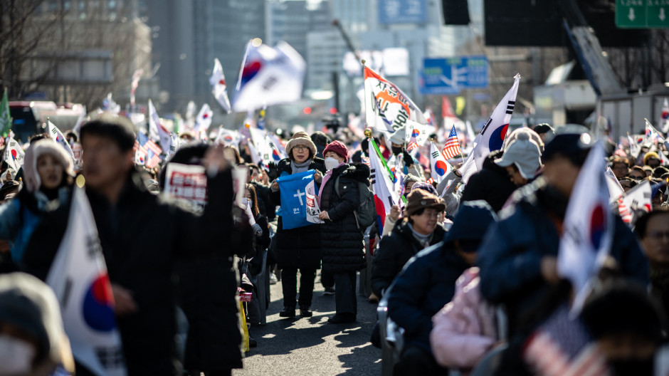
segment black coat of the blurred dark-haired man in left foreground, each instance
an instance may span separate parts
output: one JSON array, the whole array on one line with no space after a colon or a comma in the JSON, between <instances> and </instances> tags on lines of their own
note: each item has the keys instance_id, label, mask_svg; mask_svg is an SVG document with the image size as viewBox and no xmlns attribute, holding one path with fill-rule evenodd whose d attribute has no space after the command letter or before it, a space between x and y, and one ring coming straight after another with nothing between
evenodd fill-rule
<instances>
[{"instance_id":1,"label":"black coat of the blurred dark-haired man in left foreground","mask_svg":"<svg viewBox=\"0 0 669 376\"><path fill-rule=\"evenodd\" d=\"M221 266L231 266L227 237L233 226L232 176L227 171L208 180L209 192L217 194L209 195L201 216L147 192L136 170L130 172L116 204L87 189L110 281L132 291L137 303L135 313L117 318L130 376L176 372L172 275L177 258L213 253ZM227 340L218 354L228 367L241 367L236 276L229 269L222 272L224 282L211 286L221 291L217 296L226 312L212 318Z\"/></svg>"}]
</instances>

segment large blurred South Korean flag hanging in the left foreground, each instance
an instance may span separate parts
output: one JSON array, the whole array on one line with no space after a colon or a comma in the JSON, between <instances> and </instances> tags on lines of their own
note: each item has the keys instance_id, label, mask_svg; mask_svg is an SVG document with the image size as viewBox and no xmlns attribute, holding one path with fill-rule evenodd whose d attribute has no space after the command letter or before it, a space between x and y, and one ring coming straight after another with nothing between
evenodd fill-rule
<instances>
[{"instance_id":1,"label":"large blurred South Korean flag hanging in the left foreground","mask_svg":"<svg viewBox=\"0 0 669 376\"><path fill-rule=\"evenodd\" d=\"M74 188L68 228L46 283L60 303L75 360L95 375L126 375L107 266L83 188Z\"/></svg>"}]
</instances>

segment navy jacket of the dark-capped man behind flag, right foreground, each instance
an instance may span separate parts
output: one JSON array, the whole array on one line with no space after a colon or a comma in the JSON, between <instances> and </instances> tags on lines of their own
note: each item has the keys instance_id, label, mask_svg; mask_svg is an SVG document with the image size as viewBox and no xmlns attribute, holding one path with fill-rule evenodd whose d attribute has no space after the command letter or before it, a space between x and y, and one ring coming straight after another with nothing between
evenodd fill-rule
<instances>
[{"instance_id":1,"label":"navy jacket of the dark-capped man behind flag, right foreground","mask_svg":"<svg viewBox=\"0 0 669 376\"><path fill-rule=\"evenodd\" d=\"M544 256L557 256L560 234L557 229L567 211L568 199L544 179L525 185L515 192L516 204L500 214L479 247L481 295L494 304L504 304L509 333L527 329L527 317L541 308L550 286L542 277ZM615 229L611 257L626 278L648 285L648 261L636 237L614 216ZM530 328L531 329L531 328Z\"/></svg>"}]
</instances>

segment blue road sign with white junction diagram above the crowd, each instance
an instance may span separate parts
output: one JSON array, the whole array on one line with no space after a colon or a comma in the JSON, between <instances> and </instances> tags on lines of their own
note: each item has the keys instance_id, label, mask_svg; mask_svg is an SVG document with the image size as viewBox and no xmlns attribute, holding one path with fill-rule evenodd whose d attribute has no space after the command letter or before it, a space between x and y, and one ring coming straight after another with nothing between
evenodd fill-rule
<instances>
[{"instance_id":1,"label":"blue road sign with white junction diagram above the crowd","mask_svg":"<svg viewBox=\"0 0 669 376\"><path fill-rule=\"evenodd\" d=\"M424 58L421 94L458 94L461 89L488 88L488 58Z\"/></svg>"}]
</instances>

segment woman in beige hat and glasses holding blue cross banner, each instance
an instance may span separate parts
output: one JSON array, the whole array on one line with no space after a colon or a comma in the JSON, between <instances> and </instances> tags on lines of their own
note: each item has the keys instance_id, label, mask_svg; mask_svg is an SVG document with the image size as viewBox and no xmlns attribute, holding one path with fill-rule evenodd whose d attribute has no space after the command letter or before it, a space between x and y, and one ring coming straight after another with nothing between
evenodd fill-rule
<instances>
[{"instance_id":1,"label":"woman in beige hat and glasses holding blue cross banner","mask_svg":"<svg viewBox=\"0 0 669 376\"><path fill-rule=\"evenodd\" d=\"M315 182L318 184L321 173L325 173L322 158L315 157L316 145L305 132L297 132L285 147L288 158L277 164L279 176L305 172L315 169ZM270 199L274 204L281 204L281 193L276 180L271 186ZM283 229L283 219L278 217L276 234L276 256L281 269L283 288L283 310L281 317L295 317L295 306L300 304L300 314L311 317L311 301L314 296L316 269L320 268L320 227L317 224ZM297 300L297 269L300 270L300 299Z\"/></svg>"}]
</instances>

